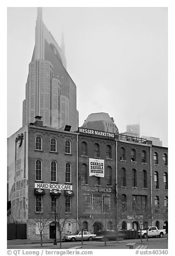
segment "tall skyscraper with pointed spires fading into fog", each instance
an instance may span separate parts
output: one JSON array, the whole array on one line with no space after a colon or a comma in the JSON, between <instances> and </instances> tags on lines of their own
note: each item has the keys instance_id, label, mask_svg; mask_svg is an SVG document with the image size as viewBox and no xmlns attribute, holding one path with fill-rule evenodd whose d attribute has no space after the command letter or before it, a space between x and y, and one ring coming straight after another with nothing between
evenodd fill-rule
<instances>
[{"instance_id":1,"label":"tall skyscraper with pointed spires fading into fog","mask_svg":"<svg viewBox=\"0 0 175 256\"><path fill-rule=\"evenodd\" d=\"M23 101L23 126L41 116L45 126L59 129L71 125L71 131L76 131L76 98L76 85L66 70L63 34L59 47L42 21L42 8L38 8L35 46Z\"/></svg>"}]
</instances>

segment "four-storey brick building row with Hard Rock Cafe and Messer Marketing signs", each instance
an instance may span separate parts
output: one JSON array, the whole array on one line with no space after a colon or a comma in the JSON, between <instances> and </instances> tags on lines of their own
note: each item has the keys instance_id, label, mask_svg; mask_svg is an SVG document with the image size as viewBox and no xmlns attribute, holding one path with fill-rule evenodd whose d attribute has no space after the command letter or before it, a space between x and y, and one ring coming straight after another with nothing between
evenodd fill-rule
<instances>
[{"instance_id":1,"label":"four-storey brick building row with Hard Rock Cafe and Messer Marketing signs","mask_svg":"<svg viewBox=\"0 0 175 256\"><path fill-rule=\"evenodd\" d=\"M48 219L43 238L54 238L55 216L57 226L65 221L63 234L116 224L138 229L135 206L146 209L149 224L167 225L167 148L123 134L65 130L37 117L8 138L11 221L27 224L27 238L39 238L40 217Z\"/></svg>"}]
</instances>

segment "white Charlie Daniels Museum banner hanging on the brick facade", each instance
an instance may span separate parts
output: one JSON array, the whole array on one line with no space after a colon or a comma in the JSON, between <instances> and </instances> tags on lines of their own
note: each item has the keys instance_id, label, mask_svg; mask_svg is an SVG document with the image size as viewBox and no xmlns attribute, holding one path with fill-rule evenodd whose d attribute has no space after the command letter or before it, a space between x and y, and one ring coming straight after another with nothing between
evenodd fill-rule
<instances>
[{"instance_id":1,"label":"white Charlie Daniels Museum banner hanging on the brick facade","mask_svg":"<svg viewBox=\"0 0 175 256\"><path fill-rule=\"evenodd\" d=\"M89 176L104 177L104 160L89 159Z\"/></svg>"}]
</instances>

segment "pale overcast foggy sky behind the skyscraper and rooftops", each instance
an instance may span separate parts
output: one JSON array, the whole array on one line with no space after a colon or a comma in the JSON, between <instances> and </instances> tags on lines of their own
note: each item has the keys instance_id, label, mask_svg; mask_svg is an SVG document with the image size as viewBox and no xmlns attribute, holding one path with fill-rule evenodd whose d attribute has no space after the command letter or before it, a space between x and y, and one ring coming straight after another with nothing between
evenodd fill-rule
<instances>
[{"instance_id":1,"label":"pale overcast foggy sky behind the skyscraper and rooftops","mask_svg":"<svg viewBox=\"0 0 175 256\"><path fill-rule=\"evenodd\" d=\"M37 8L8 8L8 137L22 126ZM77 86L79 126L107 112L119 132L140 123L141 136L167 146L167 8L43 8Z\"/></svg>"}]
</instances>

